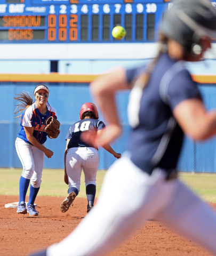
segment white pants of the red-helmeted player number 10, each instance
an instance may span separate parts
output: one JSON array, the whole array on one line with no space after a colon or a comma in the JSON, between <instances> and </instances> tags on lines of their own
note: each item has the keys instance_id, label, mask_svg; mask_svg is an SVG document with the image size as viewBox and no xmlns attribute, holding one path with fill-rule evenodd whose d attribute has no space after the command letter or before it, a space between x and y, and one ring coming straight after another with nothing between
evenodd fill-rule
<instances>
[{"instance_id":1,"label":"white pants of the red-helmeted player number 10","mask_svg":"<svg viewBox=\"0 0 216 256\"><path fill-rule=\"evenodd\" d=\"M79 191L81 172L85 175L85 186L96 186L96 175L99 166L99 154L95 148L77 147L69 148L66 156L66 170L69 187L75 187Z\"/></svg>"}]
</instances>

